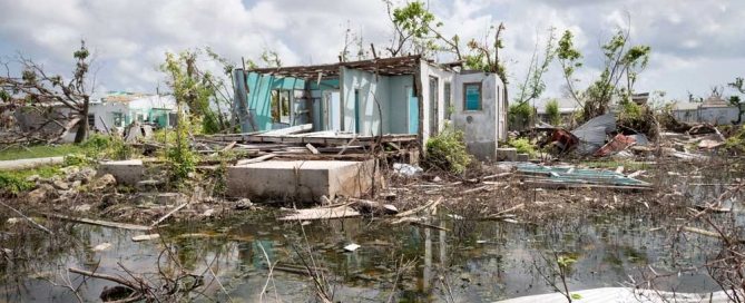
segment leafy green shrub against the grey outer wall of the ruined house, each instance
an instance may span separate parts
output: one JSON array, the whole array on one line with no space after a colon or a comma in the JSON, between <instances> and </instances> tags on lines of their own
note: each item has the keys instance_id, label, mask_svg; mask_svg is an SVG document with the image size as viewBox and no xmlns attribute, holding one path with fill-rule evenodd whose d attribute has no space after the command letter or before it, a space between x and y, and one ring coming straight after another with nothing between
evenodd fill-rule
<instances>
[{"instance_id":1,"label":"leafy green shrub against the grey outer wall of the ruined house","mask_svg":"<svg viewBox=\"0 0 745 303\"><path fill-rule=\"evenodd\" d=\"M427 141L428 163L461 174L471 164L472 157L465 150L463 131L453 129L449 124L440 135L431 137Z\"/></svg>"}]
</instances>

